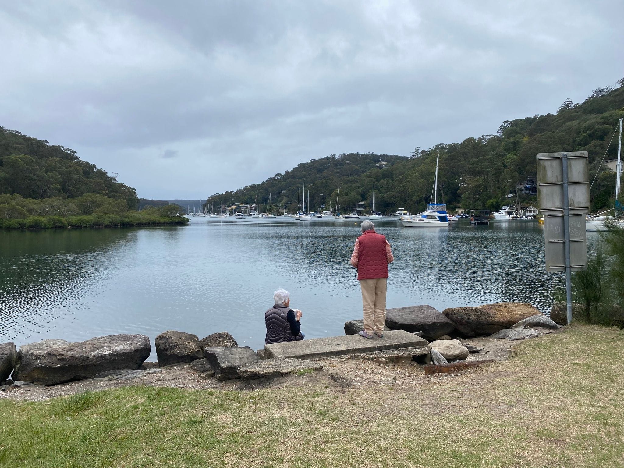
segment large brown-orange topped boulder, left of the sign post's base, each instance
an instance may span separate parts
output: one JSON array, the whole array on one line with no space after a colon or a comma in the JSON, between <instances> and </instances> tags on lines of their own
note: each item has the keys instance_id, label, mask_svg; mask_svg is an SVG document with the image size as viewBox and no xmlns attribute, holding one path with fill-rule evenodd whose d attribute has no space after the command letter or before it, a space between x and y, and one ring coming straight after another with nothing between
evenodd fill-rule
<instances>
[{"instance_id":1,"label":"large brown-orange topped boulder, left of the sign post's base","mask_svg":"<svg viewBox=\"0 0 624 468\"><path fill-rule=\"evenodd\" d=\"M442 311L464 336L482 336L510 328L520 320L542 314L534 306L500 302L479 307L456 307Z\"/></svg>"}]
</instances>

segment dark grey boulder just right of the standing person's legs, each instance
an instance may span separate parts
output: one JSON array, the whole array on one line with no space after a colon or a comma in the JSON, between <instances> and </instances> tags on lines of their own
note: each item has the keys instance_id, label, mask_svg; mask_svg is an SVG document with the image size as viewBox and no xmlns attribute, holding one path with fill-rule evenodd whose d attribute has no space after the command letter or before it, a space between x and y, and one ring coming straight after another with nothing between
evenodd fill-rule
<instances>
[{"instance_id":1,"label":"dark grey boulder just right of the standing person's legs","mask_svg":"<svg viewBox=\"0 0 624 468\"><path fill-rule=\"evenodd\" d=\"M386 326L392 330L405 330L411 333L422 331L422 338L429 341L449 334L455 329L451 320L427 305L388 309Z\"/></svg>"}]
</instances>

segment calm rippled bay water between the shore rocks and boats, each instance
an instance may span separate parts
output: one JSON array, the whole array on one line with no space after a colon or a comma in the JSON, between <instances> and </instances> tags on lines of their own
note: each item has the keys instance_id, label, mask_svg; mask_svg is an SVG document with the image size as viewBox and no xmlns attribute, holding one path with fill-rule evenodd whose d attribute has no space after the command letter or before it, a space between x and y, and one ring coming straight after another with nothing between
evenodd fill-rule
<instances>
[{"instance_id":1,"label":"calm rippled bay water between the shore rocks and boats","mask_svg":"<svg viewBox=\"0 0 624 468\"><path fill-rule=\"evenodd\" d=\"M67 341L168 329L229 331L263 346L264 311L278 287L303 311L308 338L343 334L361 318L349 265L359 226L323 221L208 222L188 227L0 231L0 343ZM449 230L378 222L392 245L388 307L527 301L552 305L561 274L544 268L537 222ZM588 233L590 248L597 236ZM152 354L155 356L155 353Z\"/></svg>"}]
</instances>

